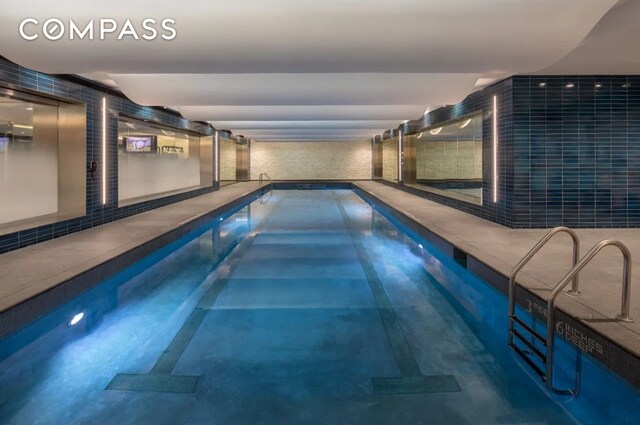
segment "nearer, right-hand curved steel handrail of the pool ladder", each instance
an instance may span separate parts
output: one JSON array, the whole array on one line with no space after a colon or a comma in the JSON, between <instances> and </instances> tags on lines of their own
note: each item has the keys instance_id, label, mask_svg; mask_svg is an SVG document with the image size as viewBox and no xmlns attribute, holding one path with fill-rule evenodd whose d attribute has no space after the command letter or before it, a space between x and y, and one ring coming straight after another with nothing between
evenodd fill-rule
<instances>
[{"instance_id":1,"label":"nearer, right-hand curved steel handrail of the pool ladder","mask_svg":"<svg viewBox=\"0 0 640 425\"><path fill-rule=\"evenodd\" d=\"M622 242L615 239L607 239L593 248L580 260L580 262L567 273L560 283L549 294L547 300L547 370L546 381L547 388L553 390L553 347L555 337L555 305L556 297L562 292L562 289L574 279L580 271L595 257L602 248L607 246L615 246L622 252L624 259L623 271L622 271L622 304L620 307L620 314L616 316L617 319L623 322L633 322L633 319L629 317L629 310L631 308L631 252Z\"/></svg>"}]
</instances>

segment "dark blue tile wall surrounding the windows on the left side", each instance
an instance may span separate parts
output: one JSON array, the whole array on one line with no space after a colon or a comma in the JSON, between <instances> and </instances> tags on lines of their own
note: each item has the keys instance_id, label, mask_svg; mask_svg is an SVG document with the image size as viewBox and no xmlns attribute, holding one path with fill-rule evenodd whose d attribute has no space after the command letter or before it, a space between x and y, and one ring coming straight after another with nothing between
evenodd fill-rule
<instances>
[{"instance_id":1,"label":"dark blue tile wall surrounding the windows on the left side","mask_svg":"<svg viewBox=\"0 0 640 425\"><path fill-rule=\"evenodd\" d=\"M75 102L87 107L87 168L91 161L102 163L101 110L102 98L107 98L107 204L102 205L102 173L98 170L95 179L89 172L87 179L86 215L55 224L27 229L0 236L0 253L12 251L37 242L64 236L113 220L124 218L160 206L169 205L203 193L217 190L217 186L176 194L126 207L118 207L118 115L126 114L142 120L162 123L171 127L211 135L213 129L202 123L194 123L170 111L137 105L121 94L107 88L93 87L73 79L42 74L16 65L0 57L0 82L16 89L39 92Z\"/></svg>"}]
</instances>

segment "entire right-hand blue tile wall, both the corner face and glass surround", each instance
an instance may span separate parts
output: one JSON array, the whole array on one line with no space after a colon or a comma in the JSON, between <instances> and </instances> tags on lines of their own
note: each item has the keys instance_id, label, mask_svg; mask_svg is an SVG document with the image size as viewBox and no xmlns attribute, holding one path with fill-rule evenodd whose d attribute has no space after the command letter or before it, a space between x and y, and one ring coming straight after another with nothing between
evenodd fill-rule
<instances>
[{"instance_id":1,"label":"entire right-hand blue tile wall, both the corner face and glass surround","mask_svg":"<svg viewBox=\"0 0 640 425\"><path fill-rule=\"evenodd\" d=\"M484 205L404 190L513 228L640 226L640 76L514 76L400 128L411 134L479 110Z\"/></svg>"}]
</instances>

